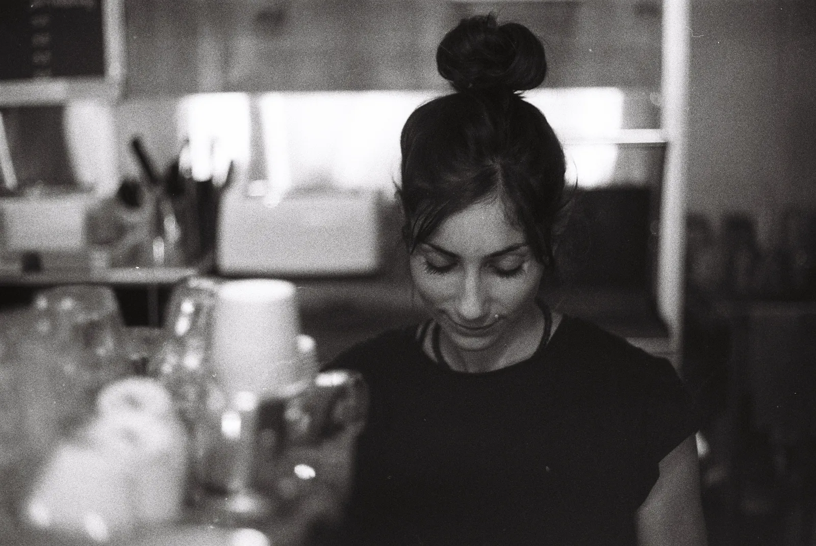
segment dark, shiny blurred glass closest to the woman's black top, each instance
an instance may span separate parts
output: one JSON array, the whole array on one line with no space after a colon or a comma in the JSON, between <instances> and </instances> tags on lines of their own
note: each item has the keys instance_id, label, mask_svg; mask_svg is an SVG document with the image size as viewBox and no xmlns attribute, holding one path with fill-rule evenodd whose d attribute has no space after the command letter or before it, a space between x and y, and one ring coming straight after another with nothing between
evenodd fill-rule
<instances>
[{"instance_id":1,"label":"dark, shiny blurred glass closest to the woman's black top","mask_svg":"<svg viewBox=\"0 0 816 546\"><path fill-rule=\"evenodd\" d=\"M362 376L336 370L318 374L294 397L262 404L255 487L273 499L270 535L303 544L317 528L338 526L368 403Z\"/></svg>"}]
</instances>

